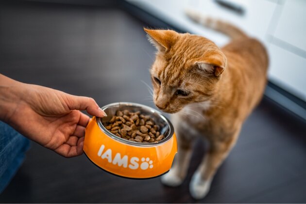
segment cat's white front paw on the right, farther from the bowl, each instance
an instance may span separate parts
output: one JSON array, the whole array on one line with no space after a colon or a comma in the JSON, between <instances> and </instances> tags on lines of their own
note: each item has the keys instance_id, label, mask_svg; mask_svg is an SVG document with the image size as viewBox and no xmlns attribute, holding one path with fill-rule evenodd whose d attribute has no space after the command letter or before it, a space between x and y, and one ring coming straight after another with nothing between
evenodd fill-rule
<instances>
[{"instance_id":1,"label":"cat's white front paw on the right, farther from the bowl","mask_svg":"<svg viewBox=\"0 0 306 204\"><path fill-rule=\"evenodd\" d=\"M211 180L204 181L201 179L200 172L195 172L191 178L189 191L194 199L204 198L210 189Z\"/></svg>"}]
</instances>

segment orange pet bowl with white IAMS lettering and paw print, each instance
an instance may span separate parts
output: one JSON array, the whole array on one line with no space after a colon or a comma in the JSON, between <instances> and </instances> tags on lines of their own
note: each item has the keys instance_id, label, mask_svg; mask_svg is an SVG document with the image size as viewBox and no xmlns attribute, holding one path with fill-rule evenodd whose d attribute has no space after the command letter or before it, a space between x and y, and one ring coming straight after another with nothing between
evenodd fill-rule
<instances>
[{"instance_id":1,"label":"orange pet bowl with white IAMS lettering and paw print","mask_svg":"<svg viewBox=\"0 0 306 204\"><path fill-rule=\"evenodd\" d=\"M170 121L159 111L128 102L106 105L106 117L93 117L85 130L85 155L106 172L127 178L153 178L167 173L177 152L176 137ZM165 138L158 142L140 143L124 140L105 126L117 110L140 111L149 115Z\"/></svg>"}]
</instances>

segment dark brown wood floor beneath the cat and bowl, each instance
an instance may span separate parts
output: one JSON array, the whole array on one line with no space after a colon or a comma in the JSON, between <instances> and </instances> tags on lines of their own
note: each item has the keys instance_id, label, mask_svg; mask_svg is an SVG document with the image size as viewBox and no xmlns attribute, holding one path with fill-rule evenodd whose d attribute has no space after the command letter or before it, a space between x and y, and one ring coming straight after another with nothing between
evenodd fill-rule
<instances>
[{"instance_id":1,"label":"dark brown wood floor beneath the cat and bowl","mask_svg":"<svg viewBox=\"0 0 306 204\"><path fill-rule=\"evenodd\" d=\"M141 21L113 8L0 3L0 73L103 106L131 101L153 107L142 80L154 48ZM305 203L306 124L264 98L201 201L188 192L204 148L199 141L186 181L131 180L103 172L84 155L66 159L33 143L0 195L1 203Z\"/></svg>"}]
</instances>

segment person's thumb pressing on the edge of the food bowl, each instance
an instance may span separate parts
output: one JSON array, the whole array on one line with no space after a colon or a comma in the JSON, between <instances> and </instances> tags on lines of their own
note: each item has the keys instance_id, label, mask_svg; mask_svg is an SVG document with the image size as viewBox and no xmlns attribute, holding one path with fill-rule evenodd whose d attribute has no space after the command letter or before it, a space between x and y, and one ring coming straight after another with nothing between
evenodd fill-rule
<instances>
[{"instance_id":1,"label":"person's thumb pressing on the edge of the food bowl","mask_svg":"<svg viewBox=\"0 0 306 204\"><path fill-rule=\"evenodd\" d=\"M93 98L75 95L70 96L71 98L68 100L70 101L68 104L70 110L86 110L90 115L101 118L107 116Z\"/></svg>"}]
</instances>

